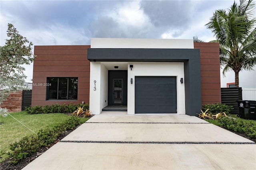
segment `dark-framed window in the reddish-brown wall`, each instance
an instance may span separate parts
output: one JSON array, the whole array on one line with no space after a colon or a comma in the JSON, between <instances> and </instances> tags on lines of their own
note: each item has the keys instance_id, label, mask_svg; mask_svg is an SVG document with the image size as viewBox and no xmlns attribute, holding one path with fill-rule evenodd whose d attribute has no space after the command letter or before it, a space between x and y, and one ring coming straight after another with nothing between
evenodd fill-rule
<instances>
[{"instance_id":1,"label":"dark-framed window in the reddish-brown wall","mask_svg":"<svg viewBox=\"0 0 256 170\"><path fill-rule=\"evenodd\" d=\"M78 77L48 77L47 100L77 100Z\"/></svg>"}]
</instances>

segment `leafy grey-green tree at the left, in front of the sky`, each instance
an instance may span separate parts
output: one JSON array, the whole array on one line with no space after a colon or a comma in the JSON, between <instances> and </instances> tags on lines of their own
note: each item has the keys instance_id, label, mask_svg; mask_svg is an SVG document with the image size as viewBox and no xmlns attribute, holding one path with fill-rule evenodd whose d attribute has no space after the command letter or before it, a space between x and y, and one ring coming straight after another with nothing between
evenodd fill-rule
<instances>
[{"instance_id":1,"label":"leafy grey-green tree at the left, in front of the sky","mask_svg":"<svg viewBox=\"0 0 256 170\"><path fill-rule=\"evenodd\" d=\"M32 42L21 36L12 24L8 24L8 39L0 46L0 103L11 91L24 89L25 68L32 63Z\"/></svg>"}]
</instances>

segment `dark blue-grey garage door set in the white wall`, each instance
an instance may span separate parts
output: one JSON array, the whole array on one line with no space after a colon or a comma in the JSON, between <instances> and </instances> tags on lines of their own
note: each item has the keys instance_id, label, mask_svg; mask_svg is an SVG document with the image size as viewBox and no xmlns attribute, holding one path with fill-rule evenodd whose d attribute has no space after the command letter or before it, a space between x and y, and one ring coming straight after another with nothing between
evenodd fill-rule
<instances>
[{"instance_id":1,"label":"dark blue-grey garage door set in the white wall","mask_svg":"<svg viewBox=\"0 0 256 170\"><path fill-rule=\"evenodd\" d=\"M177 113L176 77L135 77L135 113Z\"/></svg>"}]
</instances>

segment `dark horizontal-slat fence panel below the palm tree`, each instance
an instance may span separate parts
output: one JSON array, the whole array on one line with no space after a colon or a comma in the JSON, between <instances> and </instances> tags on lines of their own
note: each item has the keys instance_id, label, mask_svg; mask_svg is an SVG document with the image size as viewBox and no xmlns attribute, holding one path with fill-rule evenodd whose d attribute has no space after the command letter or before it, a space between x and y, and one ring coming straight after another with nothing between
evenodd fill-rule
<instances>
[{"instance_id":1,"label":"dark horizontal-slat fence panel below the palm tree","mask_svg":"<svg viewBox=\"0 0 256 170\"><path fill-rule=\"evenodd\" d=\"M242 100L242 87L221 88L221 103L233 106L232 114L239 113L237 100Z\"/></svg>"}]
</instances>

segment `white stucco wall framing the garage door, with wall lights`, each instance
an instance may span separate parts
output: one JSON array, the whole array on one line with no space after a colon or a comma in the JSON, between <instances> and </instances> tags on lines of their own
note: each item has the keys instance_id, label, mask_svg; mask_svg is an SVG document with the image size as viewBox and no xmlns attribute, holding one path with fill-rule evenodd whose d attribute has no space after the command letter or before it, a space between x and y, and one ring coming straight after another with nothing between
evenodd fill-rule
<instances>
[{"instance_id":1,"label":"white stucco wall framing the garage door, with wall lights","mask_svg":"<svg viewBox=\"0 0 256 170\"><path fill-rule=\"evenodd\" d=\"M133 65L130 70L129 66ZM184 78L184 63L132 62L128 63L128 101L127 113L135 113L135 76L176 76L177 77L177 113L185 114L185 85L180 83ZM133 83L130 83L130 79ZM186 80L184 80L186 81Z\"/></svg>"}]
</instances>

